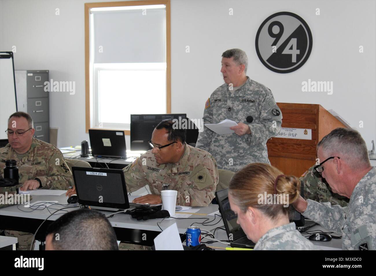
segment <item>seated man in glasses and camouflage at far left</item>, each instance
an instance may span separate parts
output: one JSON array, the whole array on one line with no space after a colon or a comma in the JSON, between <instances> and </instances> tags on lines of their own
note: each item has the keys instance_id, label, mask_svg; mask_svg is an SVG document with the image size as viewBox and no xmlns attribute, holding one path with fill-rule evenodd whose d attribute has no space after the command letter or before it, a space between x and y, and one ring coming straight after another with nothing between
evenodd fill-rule
<instances>
[{"instance_id":1,"label":"seated man in glasses and camouflage at far left","mask_svg":"<svg viewBox=\"0 0 376 276\"><path fill-rule=\"evenodd\" d=\"M56 146L33 138L33 120L29 114L16 112L8 120L9 143L0 148L0 173L4 175L5 160L17 161L21 190L67 190L73 186L72 173ZM5 230L5 235L18 238L18 250L30 248L33 234Z\"/></svg>"}]
</instances>

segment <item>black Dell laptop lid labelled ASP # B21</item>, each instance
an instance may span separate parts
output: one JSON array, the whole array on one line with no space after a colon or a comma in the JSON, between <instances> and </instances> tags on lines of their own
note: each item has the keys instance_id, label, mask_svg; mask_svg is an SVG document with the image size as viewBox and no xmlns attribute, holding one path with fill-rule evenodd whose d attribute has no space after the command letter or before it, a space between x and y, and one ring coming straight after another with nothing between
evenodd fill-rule
<instances>
[{"instance_id":1,"label":"black Dell laptop lid labelled ASP # B21","mask_svg":"<svg viewBox=\"0 0 376 276\"><path fill-rule=\"evenodd\" d=\"M72 167L72 171L80 204L129 208L123 170Z\"/></svg>"}]
</instances>

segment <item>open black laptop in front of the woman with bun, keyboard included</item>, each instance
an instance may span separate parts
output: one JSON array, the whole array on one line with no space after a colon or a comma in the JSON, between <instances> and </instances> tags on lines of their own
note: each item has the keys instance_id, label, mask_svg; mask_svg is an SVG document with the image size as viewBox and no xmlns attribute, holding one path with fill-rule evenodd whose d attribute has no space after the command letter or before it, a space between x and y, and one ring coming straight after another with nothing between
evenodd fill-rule
<instances>
[{"instance_id":1,"label":"open black laptop in front of the woman with bun, keyboard included","mask_svg":"<svg viewBox=\"0 0 376 276\"><path fill-rule=\"evenodd\" d=\"M229 202L229 189L215 192L215 198L219 205L227 237L229 237L231 247L253 248L255 243L247 238L241 226L237 223L238 216L231 211Z\"/></svg>"}]
</instances>

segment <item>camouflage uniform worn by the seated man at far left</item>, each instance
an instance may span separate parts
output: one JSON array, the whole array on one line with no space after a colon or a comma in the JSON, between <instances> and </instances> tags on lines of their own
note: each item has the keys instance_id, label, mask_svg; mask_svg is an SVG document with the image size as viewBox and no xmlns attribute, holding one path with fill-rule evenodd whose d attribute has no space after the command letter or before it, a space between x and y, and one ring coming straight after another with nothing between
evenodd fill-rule
<instances>
[{"instance_id":1,"label":"camouflage uniform worn by the seated man at far left","mask_svg":"<svg viewBox=\"0 0 376 276\"><path fill-rule=\"evenodd\" d=\"M73 186L73 176L64 157L56 146L32 138L29 151L18 155L9 144L0 148L0 173L4 175L5 160L17 161L20 184L26 180L40 179L41 189L68 190ZM5 230L5 234L18 238L18 250L28 250L33 234ZM33 245L34 246L34 245Z\"/></svg>"}]
</instances>

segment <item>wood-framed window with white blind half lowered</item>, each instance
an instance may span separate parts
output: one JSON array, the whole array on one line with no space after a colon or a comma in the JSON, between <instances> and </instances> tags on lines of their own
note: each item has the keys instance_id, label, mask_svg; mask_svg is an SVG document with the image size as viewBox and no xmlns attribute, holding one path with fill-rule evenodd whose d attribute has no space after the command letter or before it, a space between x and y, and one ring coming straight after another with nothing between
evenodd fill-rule
<instances>
[{"instance_id":1,"label":"wood-framed window with white blind half lowered","mask_svg":"<svg viewBox=\"0 0 376 276\"><path fill-rule=\"evenodd\" d=\"M120 2L124 6L117 7L85 4L91 5L87 9L87 129L129 130L130 114L170 112L166 12L169 1L161 2L165 5L147 5L148 1L143 6L129 5L132 2Z\"/></svg>"}]
</instances>

